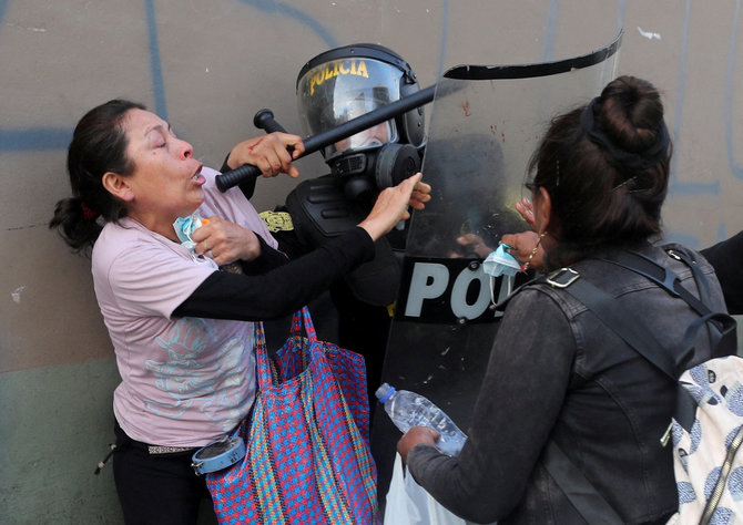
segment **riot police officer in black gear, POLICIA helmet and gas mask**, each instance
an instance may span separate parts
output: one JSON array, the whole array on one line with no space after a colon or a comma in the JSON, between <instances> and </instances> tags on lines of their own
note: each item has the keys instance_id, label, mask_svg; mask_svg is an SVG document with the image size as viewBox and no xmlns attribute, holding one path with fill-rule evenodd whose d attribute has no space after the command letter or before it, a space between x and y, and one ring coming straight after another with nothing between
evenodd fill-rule
<instances>
[{"instance_id":1,"label":"riot police officer in black gear, POLICIA helmet and gas mask","mask_svg":"<svg viewBox=\"0 0 743 525\"><path fill-rule=\"evenodd\" d=\"M413 68L388 48L358 43L325 51L297 76L302 131L317 135L417 91ZM420 169L425 145L424 109L417 107L323 148L330 173L298 184L277 208L281 215L273 214L277 220L268 220L281 247L295 257L355 226L381 189ZM400 224L380 239L375 259L330 289L335 312L324 308L324 316L337 316L338 343L365 357L370 399L381 374L406 234L407 224Z\"/></svg>"}]
</instances>

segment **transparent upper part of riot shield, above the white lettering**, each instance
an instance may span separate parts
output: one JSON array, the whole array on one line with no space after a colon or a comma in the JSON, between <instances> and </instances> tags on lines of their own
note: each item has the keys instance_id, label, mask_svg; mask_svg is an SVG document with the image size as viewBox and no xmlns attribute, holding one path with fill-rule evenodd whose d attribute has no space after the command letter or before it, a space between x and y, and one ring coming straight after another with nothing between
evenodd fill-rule
<instances>
[{"instance_id":1,"label":"transparent upper part of riot shield, above the white lettering","mask_svg":"<svg viewBox=\"0 0 743 525\"><path fill-rule=\"evenodd\" d=\"M407 255L482 258L457 238L475 234L495 250L503 234L523 230L515 204L528 194L531 154L553 115L586 104L614 78L618 47L619 39L561 62L449 70L423 166L435 198L413 219Z\"/></svg>"}]
</instances>

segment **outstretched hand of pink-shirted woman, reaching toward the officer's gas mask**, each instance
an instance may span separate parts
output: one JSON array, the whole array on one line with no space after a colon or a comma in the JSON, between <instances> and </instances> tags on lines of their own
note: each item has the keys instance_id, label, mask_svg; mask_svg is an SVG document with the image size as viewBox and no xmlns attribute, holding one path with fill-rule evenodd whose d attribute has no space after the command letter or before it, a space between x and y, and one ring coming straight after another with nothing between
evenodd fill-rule
<instances>
[{"instance_id":1,"label":"outstretched hand of pink-shirted woman, reaching toward the officer's gas mask","mask_svg":"<svg viewBox=\"0 0 743 525\"><path fill-rule=\"evenodd\" d=\"M431 187L420 182L421 177L421 173L416 173L397 186L385 188L377 196L374 208L359 223L374 240L387 234L400 220L409 218L408 206L414 209L426 207L426 203L430 200Z\"/></svg>"}]
</instances>

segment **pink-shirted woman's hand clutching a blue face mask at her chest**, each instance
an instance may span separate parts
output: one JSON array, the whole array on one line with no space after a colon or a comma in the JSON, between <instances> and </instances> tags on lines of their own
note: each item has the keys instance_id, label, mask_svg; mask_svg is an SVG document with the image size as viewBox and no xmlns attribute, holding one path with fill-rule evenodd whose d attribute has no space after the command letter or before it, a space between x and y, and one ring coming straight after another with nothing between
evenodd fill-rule
<instances>
[{"instance_id":1,"label":"pink-shirted woman's hand clutching a blue face mask at her chest","mask_svg":"<svg viewBox=\"0 0 743 525\"><path fill-rule=\"evenodd\" d=\"M220 217L202 219L203 226L191 238L196 241L196 254L212 259L217 266L235 260L253 260L261 255L256 234Z\"/></svg>"}]
</instances>

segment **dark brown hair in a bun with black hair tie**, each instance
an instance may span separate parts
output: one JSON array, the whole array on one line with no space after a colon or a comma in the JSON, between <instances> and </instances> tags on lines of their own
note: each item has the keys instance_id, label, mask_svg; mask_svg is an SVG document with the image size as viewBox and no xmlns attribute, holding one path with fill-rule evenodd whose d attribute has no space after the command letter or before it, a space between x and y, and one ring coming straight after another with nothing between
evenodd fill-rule
<instances>
[{"instance_id":1,"label":"dark brown hair in a bun with black hair tie","mask_svg":"<svg viewBox=\"0 0 743 525\"><path fill-rule=\"evenodd\" d=\"M550 194L550 262L660 234L671 150L660 94L634 76L613 80L590 104L556 117L527 184Z\"/></svg>"}]
</instances>

